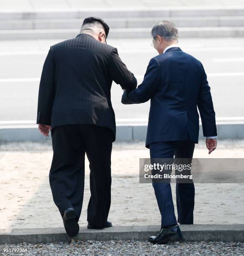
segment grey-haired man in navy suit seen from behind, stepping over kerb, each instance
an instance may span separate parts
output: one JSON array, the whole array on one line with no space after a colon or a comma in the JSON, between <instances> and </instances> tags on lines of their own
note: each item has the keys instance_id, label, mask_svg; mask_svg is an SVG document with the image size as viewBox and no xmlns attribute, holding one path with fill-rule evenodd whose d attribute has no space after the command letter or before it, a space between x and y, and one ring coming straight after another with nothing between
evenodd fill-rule
<instances>
[{"instance_id":1,"label":"grey-haired man in navy suit seen from behind, stepping over kerb","mask_svg":"<svg viewBox=\"0 0 244 256\"><path fill-rule=\"evenodd\" d=\"M153 47L158 56L148 64L143 82L131 92L124 91L123 104L138 104L151 99L146 148L153 159L189 159L199 137L199 113L209 154L216 148L215 112L201 62L183 52L178 44L178 29L169 21L152 30ZM151 236L152 243L167 243L182 237L177 225L169 182L153 182L161 212L161 230ZM178 222L193 224L194 183L176 184Z\"/></svg>"}]
</instances>

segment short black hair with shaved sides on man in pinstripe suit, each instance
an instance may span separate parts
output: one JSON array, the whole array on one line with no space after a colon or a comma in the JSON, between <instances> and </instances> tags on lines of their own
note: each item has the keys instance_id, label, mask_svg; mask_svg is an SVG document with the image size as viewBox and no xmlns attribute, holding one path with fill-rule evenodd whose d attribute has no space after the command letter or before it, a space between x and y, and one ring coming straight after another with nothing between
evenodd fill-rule
<instances>
[{"instance_id":1,"label":"short black hair with shaved sides on man in pinstripe suit","mask_svg":"<svg viewBox=\"0 0 244 256\"><path fill-rule=\"evenodd\" d=\"M98 17L88 17L83 20L83 24L80 32L84 30L90 30L94 32L101 32L103 30L105 32L106 38L108 38L109 26L108 24L101 18Z\"/></svg>"}]
</instances>

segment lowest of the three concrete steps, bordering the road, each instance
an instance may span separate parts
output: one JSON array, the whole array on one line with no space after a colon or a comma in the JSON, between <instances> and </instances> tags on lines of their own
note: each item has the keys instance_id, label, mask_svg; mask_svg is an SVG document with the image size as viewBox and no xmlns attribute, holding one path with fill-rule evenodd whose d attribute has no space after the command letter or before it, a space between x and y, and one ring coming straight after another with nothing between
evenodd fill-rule
<instances>
[{"instance_id":1,"label":"lowest of the three concrete steps, bordering the road","mask_svg":"<svg viewBox=\"0 0 244 256\"><path fill-rule=\"evenodd\" d=\"M79 29L25 29L2 30L0 40L16 39L51 39L73 38L79 33ZM109 38L148 38L151 37L151 28L114 28L109 33ZM243 37L242 27L185 27L179 28L179 37Z\"/></svg>"}]
</instances>

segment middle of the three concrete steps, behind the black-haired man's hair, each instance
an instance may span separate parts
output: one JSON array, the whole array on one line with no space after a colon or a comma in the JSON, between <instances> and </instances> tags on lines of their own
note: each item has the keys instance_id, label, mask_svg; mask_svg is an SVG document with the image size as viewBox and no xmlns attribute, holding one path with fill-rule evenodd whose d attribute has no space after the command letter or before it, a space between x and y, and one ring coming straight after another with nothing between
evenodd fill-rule
<instances>
[{"instance_id":1,"label":"middle of the three concrete steps, behind the black-haired man's hair","mask_svg":"<svg viewBox=\"0 0 244 256\"><path fill-rule=\"evenodd\" d=\"M214 17L145 17L107 18L110 28L152 28L161 20L169 20L178 27L236 27L244 26L244 16ZM83 19L1 20L0 30L11 29L80 29Z\"/></svg>"}]
</instances>

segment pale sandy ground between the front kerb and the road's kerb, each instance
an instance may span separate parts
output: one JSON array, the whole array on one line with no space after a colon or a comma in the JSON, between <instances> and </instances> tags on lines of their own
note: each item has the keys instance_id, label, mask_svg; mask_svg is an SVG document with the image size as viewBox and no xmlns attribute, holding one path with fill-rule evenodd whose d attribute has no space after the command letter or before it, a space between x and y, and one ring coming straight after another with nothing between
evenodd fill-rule
<instances>
[{"instance_id":1,"label":"pale sandy ground between the front kerb and the road's kerb","mask_svg":"<svg viewBox=\"0 0 244 256\"><path fill-rule=\"evenodd\" d=\"M50 143L0 145L1 228L62 227L63 222L48 181L52 160ZM203 142L194 157L238 158L244 141L219 142L210 156ZM143 142L114 143L112 154L112 204L109 220L114 225L160 225L161 216L151 184L138 183L139 158L148 158ZM90 197L88 162L83 211L79 224L87 225ZM241 224L244 220L244 184L195 184L195 224ZM172 184L175 202L175 184ZM176 208L175 208L176 209ZM43 221L44 220L44 221Z\"/></svg>"}]
</instances>

